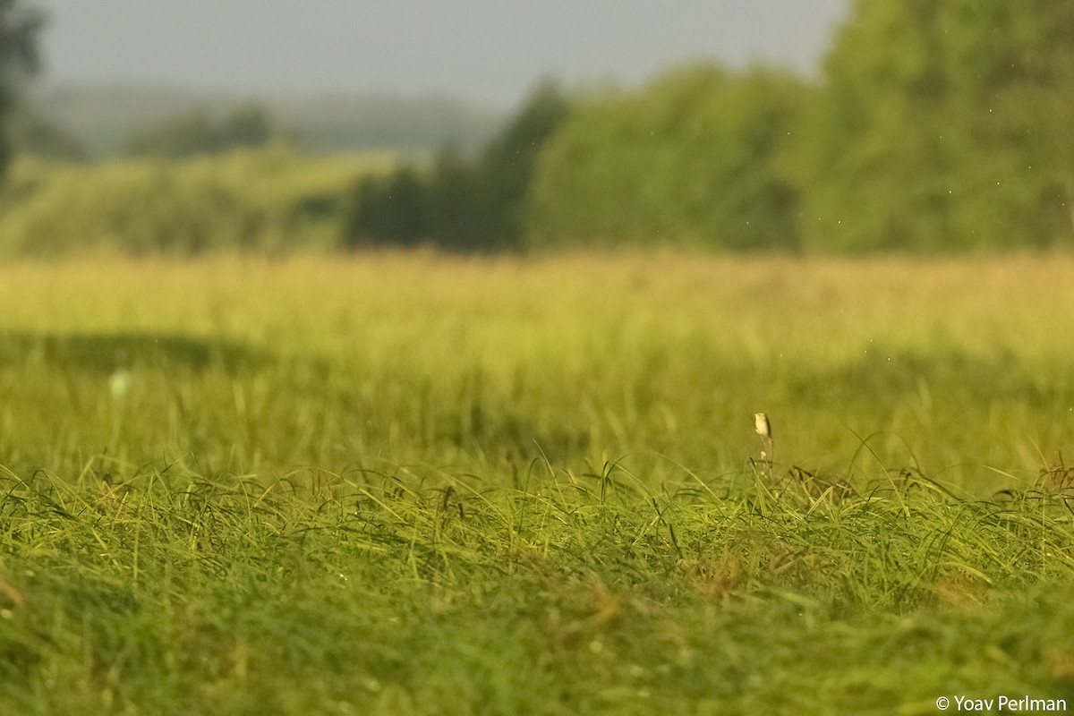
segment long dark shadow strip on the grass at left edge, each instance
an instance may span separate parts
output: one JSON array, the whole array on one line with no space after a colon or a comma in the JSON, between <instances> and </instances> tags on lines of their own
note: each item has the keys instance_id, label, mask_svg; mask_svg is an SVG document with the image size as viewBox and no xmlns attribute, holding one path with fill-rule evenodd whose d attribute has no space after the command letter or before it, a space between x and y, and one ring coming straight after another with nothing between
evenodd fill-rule
<instances>
[{"instance_id":1,"label":"long dark shadow strip on the grass at left edge","mask_svg":"<svg viewBox=\"0 0 1074 716\"><path fill-rule=\"evenodd\" d=\"M217 366L238 372L263 365L270 357L242 344L178 335L0 333L0 366L45 364L93 372L133 366L202 371Z\"/></svg>"}]
</instances>

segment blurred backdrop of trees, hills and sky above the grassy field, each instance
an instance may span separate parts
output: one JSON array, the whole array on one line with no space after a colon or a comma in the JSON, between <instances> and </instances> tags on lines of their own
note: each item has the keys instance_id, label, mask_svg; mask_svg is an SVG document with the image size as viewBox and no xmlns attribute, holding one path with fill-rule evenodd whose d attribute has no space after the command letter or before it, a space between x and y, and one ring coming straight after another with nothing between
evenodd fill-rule
<instances>
[{"instance_id":1,"label":"blurred backdrop of trees, hills and sky above the grassy field","mask_svg":"<svg viewBox=\"0 0 1074 716\"><path fill-rule=\"evenodd\" d=\"M1061 0L0 1L0 254L1074 239Z\"/></svg>"}]
</instances>

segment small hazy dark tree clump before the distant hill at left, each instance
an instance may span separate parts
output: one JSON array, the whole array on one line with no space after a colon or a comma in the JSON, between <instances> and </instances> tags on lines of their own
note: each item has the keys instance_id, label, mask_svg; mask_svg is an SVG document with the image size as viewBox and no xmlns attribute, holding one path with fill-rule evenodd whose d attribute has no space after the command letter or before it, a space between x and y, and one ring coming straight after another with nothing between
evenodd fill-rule
<instances>
[{"instance_id":1,"label":"small hazy dark tree clump before the distant hill at left","mask_svg":"<svg viewBox=\"0 0 1074 716\"><path fill-rule=\"evenodd\" d=\"M265 108L250 102L237 106L219 122L214 122L204 109L161 122L133 136L127 154L180 158L260 147L278 138L281 134Z\"/></svg>"}]
</instances>

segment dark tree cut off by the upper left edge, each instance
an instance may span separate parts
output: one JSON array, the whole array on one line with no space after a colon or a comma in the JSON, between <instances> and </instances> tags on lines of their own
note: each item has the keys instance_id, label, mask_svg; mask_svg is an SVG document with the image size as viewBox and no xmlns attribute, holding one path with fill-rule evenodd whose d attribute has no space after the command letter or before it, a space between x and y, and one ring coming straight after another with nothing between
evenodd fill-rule
<instances>
[{"instance_id":1,"label":"dark tree cut off by the upper left edge","mask_svg":"<svg viewBox=\"0 0 1074 716\"><path fill-rule=\"evenodd\" d=\"M38 34L44 16L19 0L0 0L0 127L6 129L26 81L40 67ZM0 132L0 173L11 162L12 144Z\"/></svg>"}]
</instances>

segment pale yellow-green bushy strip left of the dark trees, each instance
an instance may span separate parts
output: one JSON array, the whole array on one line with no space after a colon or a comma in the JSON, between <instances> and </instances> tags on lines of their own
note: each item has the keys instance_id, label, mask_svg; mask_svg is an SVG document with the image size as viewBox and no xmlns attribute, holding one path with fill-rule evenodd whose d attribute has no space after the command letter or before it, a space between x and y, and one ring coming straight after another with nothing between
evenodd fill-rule
<instances>
[{"instance_id":1,"label":"pale yellow-green bushy strip left of the dark trees","mask_svg":"<svg viewBox=\"0 0 1074 716\"><path fill-rule=\"evenodd\" d=\"M0 195L0 251L333 248L348 188L392 163L390 156L318 159L278 145L182 161L25 158Z\"/></svg>"}]
</instances>

